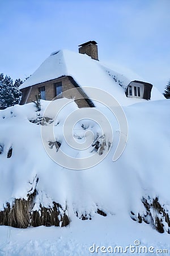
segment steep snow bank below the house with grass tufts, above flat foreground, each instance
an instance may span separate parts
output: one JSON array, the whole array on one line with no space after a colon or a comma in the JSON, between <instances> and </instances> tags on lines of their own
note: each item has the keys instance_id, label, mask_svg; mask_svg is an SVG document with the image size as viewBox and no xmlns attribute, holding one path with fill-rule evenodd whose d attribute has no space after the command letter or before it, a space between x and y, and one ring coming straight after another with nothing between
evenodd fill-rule
<instances>
[{"instance_id":1,"label":"steep snow bank below the house with grass tufts, above flat foreground","mask_svg":"<svg viewBox=\"0 0 170 256\"><path fill-rule=\"evenodd\" d=\"M31 103L0 112L1 225L66 226L75 218L93 220L100 214L114 220L128 217L131 222L146 222L148 229L169 233L170 101L143 101L124 108L129 137L116 162L112 157L120 137L118 123L113 113L100 108L112 126L111 150L99 164L81 171L56 164L42 144L42 125L48 129L53 123L56 140L48 140L53 154L61 147L72 157L98 154L100 158L100 129L91 120L80 120L70 134L78 141L92 130L95 143L83 152L65 143L63 125L77 106L65 98L56 102L61 101L68 104L57 118L53 112L42 118L46 101L41 101L40 111ZM107 151L106 143L103 152Z\"/></svg>"}]
</instances>

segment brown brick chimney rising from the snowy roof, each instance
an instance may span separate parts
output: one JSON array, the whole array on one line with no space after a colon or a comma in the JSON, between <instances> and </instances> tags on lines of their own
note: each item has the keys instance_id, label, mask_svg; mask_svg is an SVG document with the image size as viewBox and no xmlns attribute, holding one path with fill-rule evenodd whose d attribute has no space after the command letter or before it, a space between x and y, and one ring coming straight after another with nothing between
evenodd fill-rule
<instances>
[{"instance_id":1,"label":"brown brick chimney rising from the snowy roof","mask_svg":"<svg viewBox=\"0 0 170 256\"><path fill-rule=\"evenodd\" d=\"M88 41L87 43L79 45L79 53L87 54L94 60L99 60L97 43L95 41Z\"/></svg>"}]
</instances>

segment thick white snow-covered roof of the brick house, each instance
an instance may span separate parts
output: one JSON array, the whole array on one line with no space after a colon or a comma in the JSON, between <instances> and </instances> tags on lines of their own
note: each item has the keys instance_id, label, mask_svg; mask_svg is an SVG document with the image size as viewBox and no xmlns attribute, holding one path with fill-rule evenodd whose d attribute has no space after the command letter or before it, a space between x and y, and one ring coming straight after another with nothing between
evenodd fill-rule
<instances>
[{"instance_id":1,"label":"thick white snow-covered roof of the brick house","mask_svg":"<svg viewBox=\"0 0 170 256\"><path fill-rule=\"evenodd\" d=\"M137 75L126 77L106 67L101 62L91 59L90 56L69 50L53 52L29 79L20 85L19 89L62 76L73 77L79 86L106 90L121 105L131 105L142 100L141 98L127 98L125 95L125 90L130 81L140 80ZM151 100L162 100L163 98L164 96L156 88L152 89Z\"/></svg>"}]
</instances>

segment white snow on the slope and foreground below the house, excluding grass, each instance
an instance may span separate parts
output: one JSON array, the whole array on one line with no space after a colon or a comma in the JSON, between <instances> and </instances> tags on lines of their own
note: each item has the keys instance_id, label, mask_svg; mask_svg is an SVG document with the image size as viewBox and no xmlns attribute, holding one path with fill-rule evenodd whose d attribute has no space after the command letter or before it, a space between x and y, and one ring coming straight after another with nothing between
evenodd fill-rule
<instances>
[{"instance_id":1,"label":"white snow on the slope and foreground below the house, excluding grass","mask_svg":"<svg viewBox=\"0 0 170 256\"><path fill-rule=\"evenodd\" d=\"M135 240L139 240L141 245L170 251L168 223L154 207L147 214L142 203L143 197L148 203L158 197L159 204L169 214L170 121L167 117L170 101L143 101L124 107L128 121L128 143L116 162L112 158L120 138L120 127L108 108L98 108L111 123L113 144L108 155L87 170L70 170L59 166L46 154L41 139L42 126L35 121L39 121L48 104L41 101L41 112L36 112L33 103L16 105L0 112L0 208L3 210L7 202L12 205L15 199L27 199L31 189L36 188L33 210L40 210L40 205L52 208L55 201L67 209L70 224L63 228L26 230L2 226L0 255L33 255L32 250L35 251L34 255L90 255L88 248L93 243L99 246L128 246L130 243L134 245ZM70 148L63 137L63 126L68 115L78 111L76 114L79 117L83 109L78 109L73 101L67 99L54 101L53 104L48 118L54 121L54 138L61 143L61 149L72 158L87 158L94 152L97 158L102 158L99 151L92 151L94 146L83 151L76 150ZM62 104L66 105L56 117L56 109L60 109ZM102 118L99 117L99 121L101 125ZM50 122L43 127L49 136L45 137L46 143L52 141L53 137L48 133ZM84 142L85 138L91 136L85 134L86 131L91 130L95 140L100 137L99 128L86 118L76 123L73 131L69 127L70 138ZM106 141L109 141L111 138L107 130L104 133ZM7 158L10 148L12 154ZM104 149L108 151L107 144ZM58 152L54 147L51 150L52 156L57 157ZM37 183L36 177L39 177ZM101 216L98 209L107 216ZM149 224L144 221L138 223L138 214L142 217L147 214ZM88 220L83 221L82 216ZM157 216L162 218L163 234L155 230L156 224L152 222Z\"/></svg>"}]
</instances>

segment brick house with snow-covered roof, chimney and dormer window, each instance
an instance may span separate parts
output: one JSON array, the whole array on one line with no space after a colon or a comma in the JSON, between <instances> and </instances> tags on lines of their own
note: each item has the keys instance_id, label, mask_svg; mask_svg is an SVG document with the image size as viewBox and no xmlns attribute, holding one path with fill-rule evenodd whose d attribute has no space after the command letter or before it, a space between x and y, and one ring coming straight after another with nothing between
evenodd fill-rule
<instances>
[{"instance_id":1,"label":"brick house with snow-covered roof, chimney and dormer window","mask_svg":"<svg viewBox=\"0 0 170 256\"><path fill-rule=\"evenodd\" d=\"M121 105L164 98L150 83L135 76L128 78L101 63L97 43L89 41L79 45L79 53L68 50L51 53L29 79L20 85L20 104L35 100L35 95L39 93L43 100L67 97L74 98L79 108L93 107L95 102L87 95L84 86L107 91ZM67 92L71 88L75 88L74 93Z\"/></svg>"}]
</instances>

